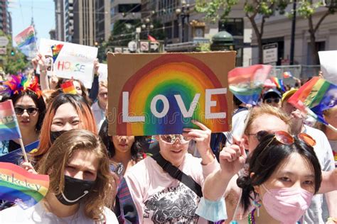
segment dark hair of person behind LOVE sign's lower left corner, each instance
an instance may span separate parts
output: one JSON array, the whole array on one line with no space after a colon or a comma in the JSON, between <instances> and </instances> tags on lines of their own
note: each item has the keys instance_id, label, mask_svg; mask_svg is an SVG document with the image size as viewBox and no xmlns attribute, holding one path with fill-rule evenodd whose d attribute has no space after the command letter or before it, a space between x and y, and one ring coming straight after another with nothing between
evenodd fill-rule
<instances>
[{"instance_id":1,"label":"dark hair of person behind LOVE sign's lower left corner","mask_svg":"<svg viewBox=\"0 0 337 224\"><path fill-rule=\"evenodd\" d=\"M111 136L107 134L107 119L102 123L102 126L100 128L100 138L102 138L102 142L105 144L105 147L107 147L107 151L109 154L109 157L112 158L114 157L115 149L114 149L114 143L111 140ZM142 150L142 144L141 142L143 141L142 136L134 136L134 143L132 144L131 147L131 157L132 160L139 162L141 159L143 159L143 150Z\"/></svg>"}]
</instances>

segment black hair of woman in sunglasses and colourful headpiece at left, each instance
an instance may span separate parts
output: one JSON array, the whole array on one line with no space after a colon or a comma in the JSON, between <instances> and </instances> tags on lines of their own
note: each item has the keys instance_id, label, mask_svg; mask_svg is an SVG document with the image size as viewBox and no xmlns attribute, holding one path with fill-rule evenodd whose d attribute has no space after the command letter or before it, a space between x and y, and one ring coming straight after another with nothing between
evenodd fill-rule
<instances>
[{"instance_id":1,"label":"black hair of woman in sunglasses and colourful headpiece at left","mask_svg":"<svg viewBox=\"0 0 337 224\"><path fill-rule=\"evenodd\" d=\"M25 91L20 91L19 94L13 94L11 96L4 94L1 101L4 102L11 99L11 101L13 101L13 105L15 105L16 101L18 101L18 99L20 99L22 96L29 96L34 101L36 108L38 108L38 123L36 123L36 130L39 132L41 130L43 119L46 115L46 103L43 100L42 95L38 96L35 91L26 89Z\"/></svg>"}]
</instances>

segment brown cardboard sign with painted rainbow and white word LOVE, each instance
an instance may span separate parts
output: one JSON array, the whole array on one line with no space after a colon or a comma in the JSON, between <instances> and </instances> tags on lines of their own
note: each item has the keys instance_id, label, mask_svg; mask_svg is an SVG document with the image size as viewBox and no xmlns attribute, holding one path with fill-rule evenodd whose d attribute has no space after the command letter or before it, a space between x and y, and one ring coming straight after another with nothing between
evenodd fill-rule
<instances>
[{"instance_id":1,"label":"brown cardboard sign with painted rainbow and white word LOVE","mask_svg":"<svg viewBox=\"0 0 337 224\"><path fill-rule=\"evenodd\" d=\"M230 130L235 52L107 54L109 135Z\"/></svg>"}]
</instances>

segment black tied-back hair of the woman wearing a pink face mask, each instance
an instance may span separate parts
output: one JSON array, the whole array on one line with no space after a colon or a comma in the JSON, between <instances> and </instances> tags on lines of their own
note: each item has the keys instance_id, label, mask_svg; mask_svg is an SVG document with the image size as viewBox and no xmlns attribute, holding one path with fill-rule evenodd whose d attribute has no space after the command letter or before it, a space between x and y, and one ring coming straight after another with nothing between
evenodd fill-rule
<instances>
[{"instance_id":1,"label":"black tied-back hair of the woman wearing a pink face mask","mask_svg":"<svg viewBox=\"0 0 337 224\"><path fill-rule=\"evenodd\" d=\"M263 184L272 176L274 171L282 164L284 159L287 159L292 153L298 153L306 159L308 164L314 171L315 175L315 191L316 194L321 186L321 165L319 159L316 157L314 148L306 145L303 141L294 137L294 143L291 145L284 145L274 138L274 135L267 135L262 139L256 149L247 159L249 166L245 167L245 173L237 179L237 186L242 188L241 206L245 211L250 206L251 193L257 194L254 191L254 186ZM250 174L254 172L254 175L250 177Z\"/></svg>"}]
</instances>

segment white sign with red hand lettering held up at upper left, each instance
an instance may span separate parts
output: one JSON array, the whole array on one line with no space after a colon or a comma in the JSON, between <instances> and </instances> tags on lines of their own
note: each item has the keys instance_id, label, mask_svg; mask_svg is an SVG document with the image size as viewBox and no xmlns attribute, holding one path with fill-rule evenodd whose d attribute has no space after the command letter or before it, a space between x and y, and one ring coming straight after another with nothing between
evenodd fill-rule
<instances>
[{"instance_id":1,"label":"white sign with red hand lettering held up at upper left","mask_svg":"<svg viewBox=\"0 0 337 224\"><path fill-rule=\"evenodd\" d=\"M94 60L97 57L97 47L77 45L58 40L41 39L41 55L53 56L51 46L63 44L62 50L58 54L53 72L48 71L48 75L54 74L57 77L66 79L78 79L83 82L86 88L91 88L94 77Z\"/></svg>"}]
</instances>

